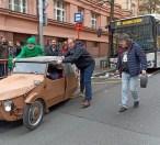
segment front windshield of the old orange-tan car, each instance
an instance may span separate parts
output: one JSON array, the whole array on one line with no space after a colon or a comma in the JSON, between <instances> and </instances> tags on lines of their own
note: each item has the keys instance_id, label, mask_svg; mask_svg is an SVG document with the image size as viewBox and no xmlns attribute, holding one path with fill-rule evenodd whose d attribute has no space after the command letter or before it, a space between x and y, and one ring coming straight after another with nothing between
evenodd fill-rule
<instances>
[{"instance_id":1,"label":"front windshield of the old orange-tan car","mask_svg":"<svg viewBox=\"0 0 160 145\"><path fill-rule=\"evenodd\" d=\"M13 72L45 74L46 66L45 63L15 63Z\"/></svg>"}]
</instances>

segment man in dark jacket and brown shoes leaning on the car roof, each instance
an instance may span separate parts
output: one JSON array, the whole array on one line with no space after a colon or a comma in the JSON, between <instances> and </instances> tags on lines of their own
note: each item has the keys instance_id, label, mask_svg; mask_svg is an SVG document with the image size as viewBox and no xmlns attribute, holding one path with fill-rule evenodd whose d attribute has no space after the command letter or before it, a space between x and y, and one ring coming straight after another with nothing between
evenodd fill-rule
<instances>
[{"instance_id":1,"label":"man in dark jacket and brown shoes leaning on the car roof","mask_svg":"<svg viewBox=\"0 0 160 145\"><path fill-rule=\"evenodd\" d=\"M92 98L91 77L94 71L95 62L92 55L84 48L83 43L76 42L76 38L71 37L68 40L70 49L65 54L62 60L58 60L57 64L71 63L80 69L81 75L81 91L85 88L85 99L82 105L89 107Z\"/></svg>"}]
</instances>

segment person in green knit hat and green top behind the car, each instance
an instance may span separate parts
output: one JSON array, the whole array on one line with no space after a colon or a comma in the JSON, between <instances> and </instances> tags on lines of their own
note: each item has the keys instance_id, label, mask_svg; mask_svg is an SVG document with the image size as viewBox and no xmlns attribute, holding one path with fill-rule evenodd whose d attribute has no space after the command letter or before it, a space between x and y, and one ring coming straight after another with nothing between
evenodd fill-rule
<instances>
[{"instance_id":1,"label":"person in green knit hat and green top behind the car","mask_svg":"<svg viewBox=\"0 0 160 145\"><path fill-rule=\"evenodd\" d=\"M34 36L30 37L27 40L26 44L27 45L25 45L22 48L22 52L16 57L16 59L27 58L27 57L36 57L36 56L44 56L44 49L41 46L36 45Z\"/></svg>"}]
</instances>

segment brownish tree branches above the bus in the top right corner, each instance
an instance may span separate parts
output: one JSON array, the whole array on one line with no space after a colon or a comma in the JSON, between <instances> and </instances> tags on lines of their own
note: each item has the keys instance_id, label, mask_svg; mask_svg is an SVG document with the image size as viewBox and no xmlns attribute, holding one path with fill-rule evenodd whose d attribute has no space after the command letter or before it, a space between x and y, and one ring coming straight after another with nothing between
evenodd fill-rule
<instances>
[{"instance_id":1,"label":"brownish tree branches above the bus in the top right corner","mask_svg":"<svg viewBox=\"0 0 160 145\"><path fill-rule=\"evenodd\" d=\"M144 0L139 5L140 11L151 13L160 13L160 0Z\"/></svg>"}]
</instances>

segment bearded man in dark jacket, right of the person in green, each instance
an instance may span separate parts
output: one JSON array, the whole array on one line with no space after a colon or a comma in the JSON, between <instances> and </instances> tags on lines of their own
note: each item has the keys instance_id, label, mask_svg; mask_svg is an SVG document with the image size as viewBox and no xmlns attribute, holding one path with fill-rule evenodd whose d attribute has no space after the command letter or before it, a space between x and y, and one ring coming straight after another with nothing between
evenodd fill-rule
<instances>
[{"instance_id":1,"label":"bearded man in dark jacket, right of the person in green","mask_svg":"<svg viewBox=\"0 0 160 145\"><path fill-rule=\"evenodd\" d=\"M57 38L52 40L52 45L46 48L45 56L62 56L62 49L58 45Z\"/></svg>"}]
</instances>

